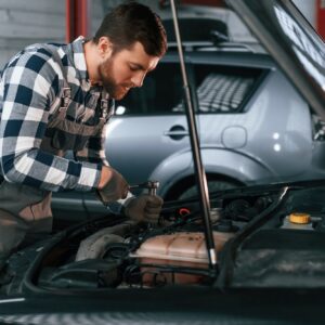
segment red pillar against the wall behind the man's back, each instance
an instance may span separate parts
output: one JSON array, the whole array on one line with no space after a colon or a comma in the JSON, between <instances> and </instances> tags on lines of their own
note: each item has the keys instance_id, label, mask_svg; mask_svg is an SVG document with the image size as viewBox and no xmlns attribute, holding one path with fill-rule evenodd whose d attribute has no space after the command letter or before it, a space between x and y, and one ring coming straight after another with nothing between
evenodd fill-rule
<instances>
[{"instance_id":1,"label":"red pillar against the wall behind the man's back","mask_svg":"<svg viewBox=\"0 0 325 325\"><path fill-rule=\"evenodd\" d=\"M78 36L90 36L90 5L88 0L66 0L66 42Z\"/></svg>"}]
</instances>

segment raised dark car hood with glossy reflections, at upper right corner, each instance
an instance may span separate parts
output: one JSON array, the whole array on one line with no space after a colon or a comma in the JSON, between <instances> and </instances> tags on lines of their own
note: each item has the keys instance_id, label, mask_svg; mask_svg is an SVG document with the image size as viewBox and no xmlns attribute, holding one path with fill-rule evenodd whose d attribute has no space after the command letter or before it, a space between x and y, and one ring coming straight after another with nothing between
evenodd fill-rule
<instances>
[{"instance_id":1,"label":"raised dark car hood with glossy reflections, at upper right corner","mask_svg":"<svg viewBox=\"0 0 325 325\"><path fill-rule=\"evenodd\" d=\"M325 118L324 42L289 0L226 0L310 106Z\"/></svg>"}]
</instances>

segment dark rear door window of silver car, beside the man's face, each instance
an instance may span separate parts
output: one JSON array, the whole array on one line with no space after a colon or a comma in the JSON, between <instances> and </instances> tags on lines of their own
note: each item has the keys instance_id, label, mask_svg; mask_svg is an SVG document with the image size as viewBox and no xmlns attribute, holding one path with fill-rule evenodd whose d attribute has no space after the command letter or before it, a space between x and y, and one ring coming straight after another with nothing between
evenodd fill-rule
<instances>
[{"instance_id":1,"label":"dark rear door window of silver car, beside the man's face","mask_svg":"<svg viewBox=\"0 0 325 325\"><path fill-rule=\"evenodd\" d=\"M131 89L129 94L116 103L117 115L177 114L182 101L182 77L180 65L161 62L150 73L141 88Z\"/></svg>"}]
</instances>

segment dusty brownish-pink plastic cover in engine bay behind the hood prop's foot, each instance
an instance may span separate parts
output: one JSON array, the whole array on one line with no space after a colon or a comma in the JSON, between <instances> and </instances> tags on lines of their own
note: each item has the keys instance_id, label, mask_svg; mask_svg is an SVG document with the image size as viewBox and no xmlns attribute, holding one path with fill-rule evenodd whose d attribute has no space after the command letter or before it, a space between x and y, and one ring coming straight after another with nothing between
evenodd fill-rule
<instances>
[{"instance_id":1,"label":"dusty brownish-pink plastic cover in engine bay behind the hood prop's foot","mask_svg":"<svg viewBox=\"0 0 325 325\"><path fill-rule=\"evenodd\" d=\"M224 243L233 236L234 233L213 232L217 253ZM141 263L159 265L207 269L209 262L205 235L200 232L180 232L148 238L132 256L138 257ZM173 281L188 284L199 282L199 277L177 274L173 276Z\"/></svg>"}]
</instances>

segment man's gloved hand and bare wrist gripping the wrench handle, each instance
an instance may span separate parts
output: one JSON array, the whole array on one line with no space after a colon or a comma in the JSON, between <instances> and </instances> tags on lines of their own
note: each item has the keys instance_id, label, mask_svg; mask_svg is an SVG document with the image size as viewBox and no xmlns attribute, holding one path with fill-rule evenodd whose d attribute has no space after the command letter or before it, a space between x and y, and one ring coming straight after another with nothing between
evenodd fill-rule
<instances>
[{"instance_id":1,"label":"man's gloved hand and bare wrist gripping the wrench handle","mask_svg":"<svg viewBox=\"0 0 325 325\"><path fill-rule=\"evenodd\" d=\"M104 205L126 198L129 184L125 178L112 167L103 166L98 194Z\"/></svg>"}]
</instances>

